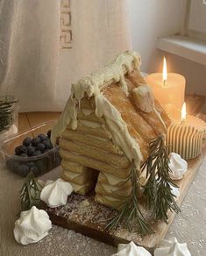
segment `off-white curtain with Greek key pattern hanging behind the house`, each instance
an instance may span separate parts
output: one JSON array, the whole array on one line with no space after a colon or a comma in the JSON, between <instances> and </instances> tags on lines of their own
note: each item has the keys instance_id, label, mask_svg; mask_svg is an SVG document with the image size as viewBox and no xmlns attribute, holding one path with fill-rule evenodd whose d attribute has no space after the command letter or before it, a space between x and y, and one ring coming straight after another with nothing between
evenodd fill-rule
<instances>
[{"instance_id":1,"label":"off-white curtain with Greek key pattern hanging behind the house","mask_svg":"<svg viewBox=\"0 0 206 256\"><path fill-rule=\"evenodd\" d=\"M59 111L70 84L131 48L126 0L1 0L0 94Z\"/></svg>"}]
</instances>

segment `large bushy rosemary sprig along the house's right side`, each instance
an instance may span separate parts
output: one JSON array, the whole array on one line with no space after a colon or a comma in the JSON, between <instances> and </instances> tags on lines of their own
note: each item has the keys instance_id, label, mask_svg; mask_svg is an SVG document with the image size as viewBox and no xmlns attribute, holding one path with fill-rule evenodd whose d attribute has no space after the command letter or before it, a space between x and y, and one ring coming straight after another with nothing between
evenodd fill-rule
<instances>
[{"instance_id":1,"label":"large bushy rosemary sprig along the house's right side","mask_svg":"<svg viewBox=\"0 0 206 256\"><path fill-rule=\"evenodd\" d=\"M142 165L142 170L146 167L146 177L149 176L146 186L144 186L144 196L146 197L146 207L153 210L154 219L161 219L167 223L168 210L180 212L180 208L174 200L171 186L178 188L171 180L168 166L169 158L165 137L160 135L149 143L150 155Z\"/></svg>"}]
</instances>

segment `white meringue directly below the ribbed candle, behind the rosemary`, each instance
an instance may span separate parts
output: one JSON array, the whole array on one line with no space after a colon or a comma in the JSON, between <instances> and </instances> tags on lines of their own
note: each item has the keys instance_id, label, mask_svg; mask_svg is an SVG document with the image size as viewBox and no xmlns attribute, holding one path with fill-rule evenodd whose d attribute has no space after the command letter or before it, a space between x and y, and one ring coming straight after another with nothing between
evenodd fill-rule
<instances>
[{"instance_id":1,"label":"white meringue directly below the ribbed candle, behind the rosemary","mask_svg":"<svg viewBox=\"0 0 206 256\"><path fill-rule=\"evenodd\" d=\"M172 173L169 173L172 180L181 180L188 170L188 162L183 160L178 153L169 154L169 167Z\"/></svg>"}]
</instances>

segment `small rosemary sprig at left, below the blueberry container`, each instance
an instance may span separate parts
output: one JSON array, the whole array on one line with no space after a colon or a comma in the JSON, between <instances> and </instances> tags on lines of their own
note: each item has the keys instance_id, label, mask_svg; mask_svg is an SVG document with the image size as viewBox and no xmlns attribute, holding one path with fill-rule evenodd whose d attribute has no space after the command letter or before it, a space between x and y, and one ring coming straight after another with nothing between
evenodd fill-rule
<instances>
[{"instance_id":1,"label":"small rosemary sprig at left, below the blueberry container","mask_svg":"<svg viewBox=\"0 0 206 256\"><path fill-rule=\"evenodd\" d=\"M42 186L36 181L32 171L25 178L25 183L19 191L22 210L30 210L32 206L38 206Z\"/></svg>"}]
</instances>

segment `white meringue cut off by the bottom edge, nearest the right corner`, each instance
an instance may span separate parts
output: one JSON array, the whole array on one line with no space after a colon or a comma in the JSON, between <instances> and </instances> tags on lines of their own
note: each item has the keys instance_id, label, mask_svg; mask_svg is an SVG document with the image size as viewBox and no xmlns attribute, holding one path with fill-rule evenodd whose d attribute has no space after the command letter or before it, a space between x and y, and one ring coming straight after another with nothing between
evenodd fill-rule
<instances>
[{"instance_id":1,"label":"white meringue cut off by the bottom edge, nearest the right corner","mask_svg":"<svg viewBox=\"0 0 206 256\"><path fill-rule=\"evenodd\" d=\"M187 244L178 243L176 238L163 239L160 247L154 250L154 256L191 256Z\"/></svg>"}]
</instances>

